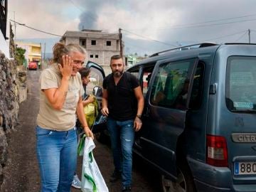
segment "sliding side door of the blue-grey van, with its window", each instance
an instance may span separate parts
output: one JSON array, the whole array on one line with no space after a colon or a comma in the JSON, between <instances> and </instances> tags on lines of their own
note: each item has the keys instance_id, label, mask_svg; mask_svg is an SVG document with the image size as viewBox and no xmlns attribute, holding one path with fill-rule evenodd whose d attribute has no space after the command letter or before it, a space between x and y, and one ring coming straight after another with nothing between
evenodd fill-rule
<instances>
[{"instance_id":1,"label":"sliding side door of the blue-grey van, with its window","mask_svg":"<svg viewBox=\"0 0 256 192\"><path fill-rule=\"evenodd\" d=\"M142 155L176 177L176 143L185 128L197 58L156 63L146 95Z\"/></svg>"}]
</instances>

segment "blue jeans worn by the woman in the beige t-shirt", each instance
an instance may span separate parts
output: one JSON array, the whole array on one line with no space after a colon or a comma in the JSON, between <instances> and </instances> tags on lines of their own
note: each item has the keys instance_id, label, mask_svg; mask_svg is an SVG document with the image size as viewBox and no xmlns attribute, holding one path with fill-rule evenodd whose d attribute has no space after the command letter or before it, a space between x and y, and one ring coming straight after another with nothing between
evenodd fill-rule
<instances>
[{"instance_id":1,"label":"blue jeans worn by the woman in the beige t-shirt","mask_svg":"<svg viewBox=\"0 0 256 192\"><path fill-rule=\"evenodd\" d=\"M57 132L36 127L36 139L41 191L70 191L78 155L76 128Z\"/></svg>"}]
</instances>

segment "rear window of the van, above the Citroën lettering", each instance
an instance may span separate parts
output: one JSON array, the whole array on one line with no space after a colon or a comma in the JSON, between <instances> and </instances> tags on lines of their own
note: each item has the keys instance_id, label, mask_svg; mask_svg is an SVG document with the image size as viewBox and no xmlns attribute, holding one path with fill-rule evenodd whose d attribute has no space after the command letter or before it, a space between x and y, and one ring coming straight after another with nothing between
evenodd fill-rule
<instances>
[{"instance_id":1,"label":"rear window of the van, above the Citro\u00ebn lettering","mask_svg":"<svg viewBox=\"0 0 256 192\"><path fill-rule=\"evenodd\" d=\"M226 105L232 112L256 112L256 57L228 58Z\"/></svg>"}]
</instances>

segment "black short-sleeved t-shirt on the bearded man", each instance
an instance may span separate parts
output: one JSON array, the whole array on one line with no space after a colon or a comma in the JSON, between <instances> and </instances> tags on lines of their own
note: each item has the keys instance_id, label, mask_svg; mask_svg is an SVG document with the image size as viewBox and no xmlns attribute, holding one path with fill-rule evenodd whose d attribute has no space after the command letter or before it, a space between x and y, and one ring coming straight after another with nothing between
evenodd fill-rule
<instances>
[{"instance_id":1,"label":"black short-sleeved t-shirt on the bearded man","mask_svg":"<svg viewBox=\"0 0 256 192\"><path fill-rule=\"evenodd\" d=\"M114 84L113 74L105 78L103 88L107 90L107 107L112 119L118 121L134 119L137 113L134 88L138 86L139 80L128 72L124 72L117 85Z\"/></svg>"}]
</instances>

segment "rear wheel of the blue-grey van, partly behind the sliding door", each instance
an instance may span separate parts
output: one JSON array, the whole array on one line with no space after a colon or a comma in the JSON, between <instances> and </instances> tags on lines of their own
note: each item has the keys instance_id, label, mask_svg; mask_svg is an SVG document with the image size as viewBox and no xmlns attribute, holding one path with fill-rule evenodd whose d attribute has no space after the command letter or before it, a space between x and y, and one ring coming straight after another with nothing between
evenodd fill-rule
<instances>
[{"instance_id":1,"label":"rear wheel of the blue-grey van, partly behind the sliding door","mask_svg":"<svg viewBox=\"0 0 256 192\"><path fill-rule=\"evenodd\" d=\"M193 177L186 165L178 166L177 180L171 181L170 178L162 175L161 186L163 192L196 192L196 188L193 183Z\"/></svg>"}]
</instances>

